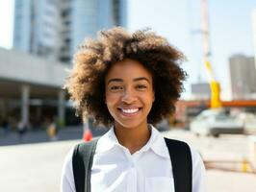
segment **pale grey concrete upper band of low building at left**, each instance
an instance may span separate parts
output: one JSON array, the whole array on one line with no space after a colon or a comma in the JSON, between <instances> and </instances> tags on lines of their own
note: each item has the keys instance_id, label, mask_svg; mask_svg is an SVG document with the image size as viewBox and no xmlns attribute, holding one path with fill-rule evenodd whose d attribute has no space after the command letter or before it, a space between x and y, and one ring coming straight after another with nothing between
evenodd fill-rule
<instances>
[{"instance_id":1,"label":"pale grey concrete upper band of low building at left","mask_svg":"<svg viewBox=\"0 0 256 192\"><path fill-rule=\"evenodd\" d=\"M70 65L0 48L0 79L62 87Z\"/></svg>"}]
</instances>

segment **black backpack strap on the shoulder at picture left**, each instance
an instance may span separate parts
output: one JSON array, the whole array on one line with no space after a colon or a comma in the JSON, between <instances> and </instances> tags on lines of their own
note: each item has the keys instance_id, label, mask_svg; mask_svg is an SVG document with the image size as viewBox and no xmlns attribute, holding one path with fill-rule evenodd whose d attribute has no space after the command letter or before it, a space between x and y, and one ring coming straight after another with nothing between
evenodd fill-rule
<instances>
[{"instance_id":1,"label":"black backpack strap on the shoulder at picture left","mask_svg":"<svg viewBox=\"0 0 256 192\"><path fill-rule=\"evenodd\" d=\"M90 192L90 169L97 141L98 139L94 139L75 146L72 166L76 192Z\"/></svg>"}]
</instances>

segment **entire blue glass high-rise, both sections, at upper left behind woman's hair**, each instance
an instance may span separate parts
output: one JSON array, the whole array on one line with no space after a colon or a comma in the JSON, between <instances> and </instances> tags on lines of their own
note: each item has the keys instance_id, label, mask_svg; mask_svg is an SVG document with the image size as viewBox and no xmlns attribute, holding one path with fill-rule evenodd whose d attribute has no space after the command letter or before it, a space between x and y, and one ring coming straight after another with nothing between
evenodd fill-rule
<instances>
[{"instance_id":1,"label":"entire blue glass high-rise, both sections, at upper left behind woman's hair","mask_svg":"<svg viewBox=\"0 0 256 192\"><path fill-rule=\"evenodd\" d=\"M127 0L15 0L13 48L69 62L85 37L126 26Z\"/></svg>"}]
</instances>

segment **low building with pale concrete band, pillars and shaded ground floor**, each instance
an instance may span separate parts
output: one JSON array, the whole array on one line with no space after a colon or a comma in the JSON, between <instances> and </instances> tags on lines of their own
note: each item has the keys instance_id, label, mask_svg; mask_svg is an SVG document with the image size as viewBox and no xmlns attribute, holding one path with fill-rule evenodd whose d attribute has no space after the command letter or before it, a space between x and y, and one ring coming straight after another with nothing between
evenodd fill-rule
<instances>
[{"instance_id":1,"label":"low building with pale concrete band, pillars and shaded ground floor","mask_svg":"<svg viewBox=\"0 0 256 192\"><path fill-rule=\"evenodd\" d=\"M74 116L63 85L67 72L61 62L0 49L0 124L8 120L41 128L46 120L74 125Z\"/></svg>"}]
</instances>

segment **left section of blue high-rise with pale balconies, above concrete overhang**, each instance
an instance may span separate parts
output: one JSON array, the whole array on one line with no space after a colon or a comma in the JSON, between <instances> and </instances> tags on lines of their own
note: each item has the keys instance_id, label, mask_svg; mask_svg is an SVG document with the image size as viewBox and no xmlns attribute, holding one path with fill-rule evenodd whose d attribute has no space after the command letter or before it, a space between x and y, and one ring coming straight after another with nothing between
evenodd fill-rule
<instances>
[{"instance_id":1,"label":"left section of blue high-rise with pale balconies, above concrete overhang","mask_svg":"<svg viewBox=\"0 0 256 192\"><path fill-rule=\"evenodd\" d=\"M14 49L57 60L61 46L59 12L58 0L16 0Z\"/></svg>"}]
</instances>

